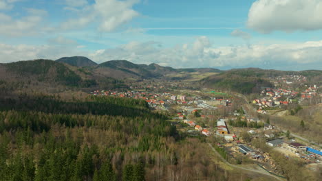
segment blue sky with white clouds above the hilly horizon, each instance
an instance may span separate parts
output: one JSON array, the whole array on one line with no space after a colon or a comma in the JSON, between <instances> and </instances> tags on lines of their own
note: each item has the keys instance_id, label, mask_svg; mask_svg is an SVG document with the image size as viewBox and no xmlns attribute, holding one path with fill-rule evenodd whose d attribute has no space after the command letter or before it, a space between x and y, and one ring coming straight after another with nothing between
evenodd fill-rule
<instances>
[{"instance_id":1,"label":"blue sky with white clouds above the hilly horizon","mask_svg":"<svg viewBox=\"0 0 322 181\"><path fill-rule=\"evenodd\" d=\"M322 70L321 0L0 0L0 62Z\"/></svg>"}]
</instances>

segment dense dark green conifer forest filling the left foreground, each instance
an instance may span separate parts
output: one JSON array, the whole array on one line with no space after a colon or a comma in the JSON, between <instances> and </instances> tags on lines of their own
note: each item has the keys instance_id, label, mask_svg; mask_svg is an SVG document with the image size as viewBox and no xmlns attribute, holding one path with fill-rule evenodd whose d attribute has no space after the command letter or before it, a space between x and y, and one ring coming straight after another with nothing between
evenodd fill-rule
<instances>
[{"instance_id":1,"label":"dense dark green conifer forest filling the left foreground","mask_svg":"<svg viewBox=\"0 0 322 181\"><path fill-rule=\"evenodd\" d=\"M174 154L175 127L143 100L0 101L0 180L145 180L153 152Z\"/></svg>"}]
</instances>

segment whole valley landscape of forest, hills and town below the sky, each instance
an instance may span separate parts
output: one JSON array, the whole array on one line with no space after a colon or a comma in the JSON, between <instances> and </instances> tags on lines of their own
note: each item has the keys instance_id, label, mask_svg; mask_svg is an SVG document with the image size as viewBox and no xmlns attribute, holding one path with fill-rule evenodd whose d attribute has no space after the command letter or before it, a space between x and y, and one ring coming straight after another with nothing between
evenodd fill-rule
<instances>
[{"instance_id":1,"label":"whole valley landscape of forest, hills and town below the sky","mask_svg":"<svg viewBox=\"0 0 322 181\"><path fill-rule=\"evenodd\" d=\"M319 180L321 72L0 64L1 179Z\"/></svg>"}]
</instances>

